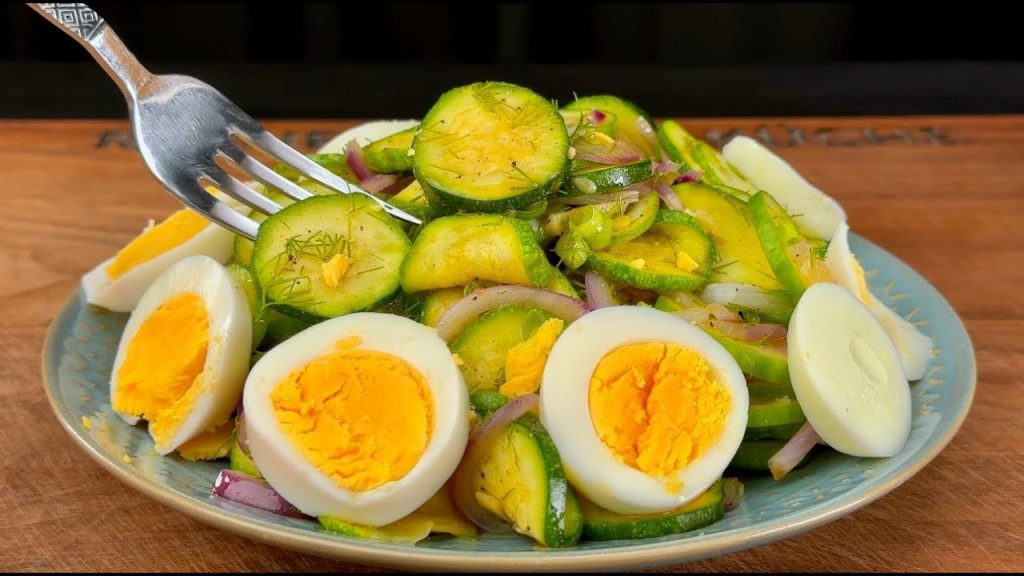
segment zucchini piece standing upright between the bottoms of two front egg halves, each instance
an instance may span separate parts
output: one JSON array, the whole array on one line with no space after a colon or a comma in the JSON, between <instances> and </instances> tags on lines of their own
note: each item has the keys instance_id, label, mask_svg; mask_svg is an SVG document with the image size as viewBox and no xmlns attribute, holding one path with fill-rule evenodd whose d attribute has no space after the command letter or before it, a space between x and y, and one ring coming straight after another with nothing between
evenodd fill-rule
<instances>
[{"instance_id":1,"label":"zucchini piece standing upright between the bottoms of two front egg halves","mask_svg":"<svg viewBox=\"0 0 1024 576\"><path fill-rule=\"evenodd\" d=\"M483 457L473 488L480 504L549 547L571 546L583 531L575 492L555 443L532 414L512 422Z\"/></svg>"}]
</instances>

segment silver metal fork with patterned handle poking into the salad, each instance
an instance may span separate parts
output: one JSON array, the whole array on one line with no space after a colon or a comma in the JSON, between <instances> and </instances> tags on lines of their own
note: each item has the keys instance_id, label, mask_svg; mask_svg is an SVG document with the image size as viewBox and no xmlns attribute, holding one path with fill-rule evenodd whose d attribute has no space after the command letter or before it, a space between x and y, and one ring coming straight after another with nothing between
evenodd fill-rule
<instances>
[{"instance_id":1,"label":"silver metal fork with patterned handle poking into the salad","mask_svg":"<svg viewBox=\"0 0 1024 576\"><path fill-rule=\"evenodd\" d=\"M260 151L342 194L362 194L392 216L420 223L369 192L346 182L289 147L212 86L178 75L150 73L114 30L85 4L31 3L30 7L85 46L128 100L132 133L150 171L175 198L207 218L249 239L259 224L218 200L213 186L243 204L272 214L281 206L247 181L275 188L302 200L311 194L260 163L247 149ZM247 177L241 179L224 167Z\"/></svg>"}]
</instances>

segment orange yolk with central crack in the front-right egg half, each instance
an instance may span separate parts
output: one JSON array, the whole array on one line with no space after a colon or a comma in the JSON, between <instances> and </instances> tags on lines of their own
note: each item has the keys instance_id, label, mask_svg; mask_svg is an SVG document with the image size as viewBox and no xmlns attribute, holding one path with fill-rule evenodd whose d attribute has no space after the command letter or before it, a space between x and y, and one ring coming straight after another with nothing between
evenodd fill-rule
<instances>
[{"instance_id":1,"label":"orange yolk with central crack in the front-right egg half","mask_svg":"<svg viewBox=\"0 0 1024 576\"><path fill-rule=\"evenodd\" d=\"M699 354L664 342L605 355L591 376L589 403L598 437L615 457L659 478L700 457L731 407L728 389Z\"/></svg>"}]
</instances>

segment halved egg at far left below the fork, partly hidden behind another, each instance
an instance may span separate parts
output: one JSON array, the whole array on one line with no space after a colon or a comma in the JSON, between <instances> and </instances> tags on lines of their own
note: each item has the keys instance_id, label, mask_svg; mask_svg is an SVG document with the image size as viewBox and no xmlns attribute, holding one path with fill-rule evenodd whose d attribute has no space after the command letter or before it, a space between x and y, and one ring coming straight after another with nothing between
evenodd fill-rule
<instances>
[{"instance_id":1,"label":"halved egg at far left below the fork, partly hidden behind another","mask_svg":"<svg viewBox=\"0 0 1024 576\"><path fill-rule=\"evenodd\" d=\"M114 257L82 277L85 299L114 312L131 312L153 281L174 262L196 254L226 262L234 235L183 208L147 227Z\"/></svg>"}]
</instances>

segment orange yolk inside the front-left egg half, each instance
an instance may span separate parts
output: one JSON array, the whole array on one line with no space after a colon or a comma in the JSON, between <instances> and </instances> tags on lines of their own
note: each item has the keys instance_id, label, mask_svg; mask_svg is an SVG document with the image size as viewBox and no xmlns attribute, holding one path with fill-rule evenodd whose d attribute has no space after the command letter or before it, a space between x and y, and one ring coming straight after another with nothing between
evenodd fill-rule
<instances>
[{"instance_id":1,"label":"orange yolk inside the front-left egg half","mask_svg":"<svg viewBox=\"0 0 1024 576\"><path fill-rule=\"evenodd\" d=\"M427 449L434 403L423 376L395 356L339 348L292 372L270 402L281 427L338 486L373 490L406 476Z\"/></svg>"}]
</instances>

